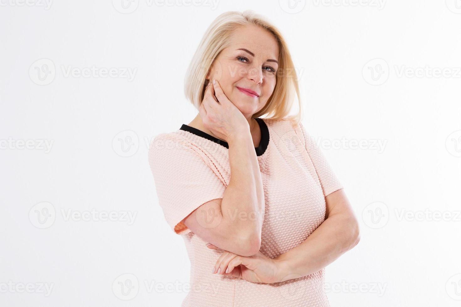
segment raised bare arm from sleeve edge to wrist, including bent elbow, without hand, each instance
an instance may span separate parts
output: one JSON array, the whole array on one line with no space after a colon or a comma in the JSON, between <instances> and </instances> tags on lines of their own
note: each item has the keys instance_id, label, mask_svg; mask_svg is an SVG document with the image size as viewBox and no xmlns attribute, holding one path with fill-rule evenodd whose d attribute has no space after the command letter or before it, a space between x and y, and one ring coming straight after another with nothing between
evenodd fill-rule
<instances>
[{"instance_id":1,"label":"raised bare arm from sleeve edge to wrist, including bent elbow, without hand","mask_svg":"<svg viewBox=\"0 0 461 307\"><path fill-rule=\"evenodd\" d=\"M241 133L227 140L231 180L223 198L202 204L183 223L201 239L237 255L260 250L264 190L253 139Z\"/></svg>"}]
</instances>

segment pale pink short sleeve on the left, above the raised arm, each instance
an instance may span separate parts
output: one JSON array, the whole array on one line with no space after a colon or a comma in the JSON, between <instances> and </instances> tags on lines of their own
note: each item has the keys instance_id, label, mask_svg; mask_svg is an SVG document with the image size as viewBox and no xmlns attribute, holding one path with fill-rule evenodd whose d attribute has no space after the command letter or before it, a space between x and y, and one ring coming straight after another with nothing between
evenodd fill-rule
<instances>
[{"instance_id":1,"label":"pale pink short sleeve on the left, above the raised arm","mask_svg":"<svg viewBox=\"0 0 461 307\"><path fill-rule=\"evenodd\" d=\"M190 232L182 220L226 189L219 171L200 148L162 133L148 151L155 190L165 220L177 234Z\"/></svg>"}]
</instances>

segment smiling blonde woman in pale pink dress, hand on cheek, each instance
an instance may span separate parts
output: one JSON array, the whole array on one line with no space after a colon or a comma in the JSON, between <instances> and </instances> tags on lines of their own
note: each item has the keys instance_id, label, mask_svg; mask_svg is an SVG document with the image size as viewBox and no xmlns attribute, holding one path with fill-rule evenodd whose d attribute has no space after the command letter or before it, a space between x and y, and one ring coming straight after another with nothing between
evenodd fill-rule
<instances>
[{"instance_id":1,"label":"smiling blonde woman in pale pink dress, hand on cheek","mask_svg":"<svg viewBox=\"0 0 461 307\"><path fill-rule=\"evenodd\" d=\"M359 227L301 103L288 116L294 92L300 101L293 72L274 26L223 13L186 75L199 113L150 145L159 204L191 263L183 306L329 306L325 266Z\"/></svg>"}]
</instances>

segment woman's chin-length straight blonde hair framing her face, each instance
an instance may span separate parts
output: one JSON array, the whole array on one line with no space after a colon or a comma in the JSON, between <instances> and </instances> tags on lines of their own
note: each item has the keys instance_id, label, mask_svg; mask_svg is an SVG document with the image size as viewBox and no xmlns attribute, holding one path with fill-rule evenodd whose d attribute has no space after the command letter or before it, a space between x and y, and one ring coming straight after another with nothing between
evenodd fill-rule
<instances>
[{"instance_id":1,"label":"woman's chin-length straight blonde hair framing her face","mask_svg":"<svg viewBox=\"0 0 461 307\"><path fill-rule=\"evenodd\" d=\"M195 51L184 78L184 94L186 98L199 110L205 92L208 70L219 53L229 46L233 31L244 25L255 25L266 29L274 35L278 41L279 48L278 70L274 91L267 100L266 105L252 117L267 115L265 118L274 120L290 118L298 124L302 117L301 96L296 70L288 46L282 34L275 26L251 10L222 13L208 27ZM299 111L297 114L290 116L289 113L294 101L294 92L296 92L296 96L298 97Z\"/></svg>"}]
</instances>

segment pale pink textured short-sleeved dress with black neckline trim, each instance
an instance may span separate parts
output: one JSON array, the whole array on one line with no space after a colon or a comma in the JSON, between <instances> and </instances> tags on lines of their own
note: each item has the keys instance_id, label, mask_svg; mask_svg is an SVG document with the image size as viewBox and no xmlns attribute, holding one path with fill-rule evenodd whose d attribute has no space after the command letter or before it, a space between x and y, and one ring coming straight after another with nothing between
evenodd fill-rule
<instances>
[{"instance_id":1,"label":"pale pink textured short-sleeved dress with black neckline trim","mask_svg":"<svg viewBox=\"0 0 461 307\"><path fill-rule=\"evenodd\" d=\"M275 258L319 227L325 220L325 196L342 185L302 123L257 121L261 141L255 151L266 203L260 252ZM158 134L150 144L159 205L171 231L183 237L191 264L190 291L182 306L330 306L325 269L275 284L211 272L222 250L208 249L181 221L201 204L222 198L231 178L228 148L226 142L185 124Z\"/></svg>"}]
</instances>

